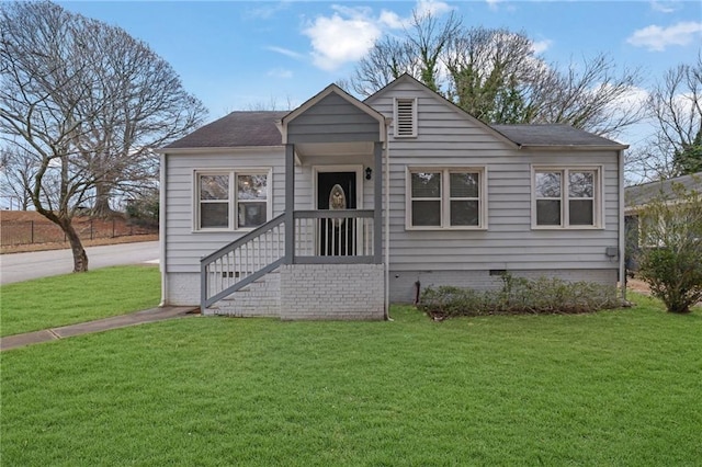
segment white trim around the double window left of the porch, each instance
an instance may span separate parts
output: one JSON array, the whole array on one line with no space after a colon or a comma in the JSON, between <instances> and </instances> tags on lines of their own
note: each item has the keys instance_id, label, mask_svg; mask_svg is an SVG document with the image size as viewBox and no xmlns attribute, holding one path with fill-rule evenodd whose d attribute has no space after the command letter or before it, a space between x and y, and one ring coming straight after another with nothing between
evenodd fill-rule
<instances>
[{"instance_id":1,"label":"white trim around the double window left of the porch","mask_svg":"<svg viewBox=\"0 0 702 467\"><path fill-rule=\"evenodd\" d=\"M228 175L229 176L229 197L227 203L229 204L228 218L229 225L227 227L200 227L200 185L199 178L201 175ZM201 232L248 232L257 227L238 227L237 226L237 175L265 175L265 221L268 223L272 218L273 213L273 170L270 167L251 167L240 169L195 169L193 171L192 181L192 231L194 234Z\"/></svg>"}]
</instances>

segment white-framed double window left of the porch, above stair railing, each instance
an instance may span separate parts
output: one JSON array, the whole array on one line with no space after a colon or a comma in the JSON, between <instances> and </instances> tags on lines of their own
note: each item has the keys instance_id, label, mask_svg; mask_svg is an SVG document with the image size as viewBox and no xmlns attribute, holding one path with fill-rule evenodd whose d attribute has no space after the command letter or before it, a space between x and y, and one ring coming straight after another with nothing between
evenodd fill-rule
<instances>
[{"instance_id":1,"label":"white-framed double window left of the porch, above stair railing","mask_svg":"<svg viewBox=\"0 0 702 467\"><path fill-rule=\"evenodd\" d=\"M195 229L251 229L269 218L267 170L195 173Z\"/></svg>"}]
</instances>

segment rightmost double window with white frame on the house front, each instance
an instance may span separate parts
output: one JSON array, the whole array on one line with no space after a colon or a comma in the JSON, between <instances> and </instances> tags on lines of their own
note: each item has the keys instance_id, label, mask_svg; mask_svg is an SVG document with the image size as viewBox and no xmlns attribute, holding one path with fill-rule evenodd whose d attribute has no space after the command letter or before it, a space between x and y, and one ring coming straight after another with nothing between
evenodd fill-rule
<instances>
[{"instance_id":1,"label":"rightmost double window with white frame on the house front","mask_svg":"<svg viewBox=\"0 0 702 467\"><path fill-rule=\"evenodd\" d=\"M600 226L600 168L534 168L533 173L535 227Z\"/></svg>"}]
</instances>

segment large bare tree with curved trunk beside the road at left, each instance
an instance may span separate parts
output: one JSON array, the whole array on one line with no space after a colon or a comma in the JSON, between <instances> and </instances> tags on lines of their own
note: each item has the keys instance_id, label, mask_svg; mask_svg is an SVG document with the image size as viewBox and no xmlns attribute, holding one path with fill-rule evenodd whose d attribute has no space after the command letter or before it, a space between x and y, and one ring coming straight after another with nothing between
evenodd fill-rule
<instances>
[{"instance_id":1,"label":"large bare tree with curved trunk beside the road at left","mask_svg":"<svg viewBox=\"0 0 702 467\"><path fill-rule=\"evenodd\" d=\"M205 115L172 68L121 29L50 2L0 3L0 138L22 151L36 210L88 257L72 226L78 207L154 184L149 148Z\"/></svg>"}]
</instances>

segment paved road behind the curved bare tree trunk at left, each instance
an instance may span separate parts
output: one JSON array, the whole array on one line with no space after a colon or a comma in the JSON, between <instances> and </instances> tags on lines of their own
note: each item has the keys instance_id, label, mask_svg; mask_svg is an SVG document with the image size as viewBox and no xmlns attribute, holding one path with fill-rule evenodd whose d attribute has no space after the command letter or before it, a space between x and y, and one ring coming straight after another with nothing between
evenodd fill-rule
<instances>
[{"instance_id":1,"label":"paved road behind the curved bare tree trunk at left","mask_svg":"<svg viewBox=\"0 0 702 467\"><path fill-rule=\"evenodd\" d=\"M89 247L86 251L90 270L117 264L156 263L159 257L158 241ZM73 255L70 250L2 254L0 271L0 284L67 274L73 271Z\"/></svg>"}]
</instances>

